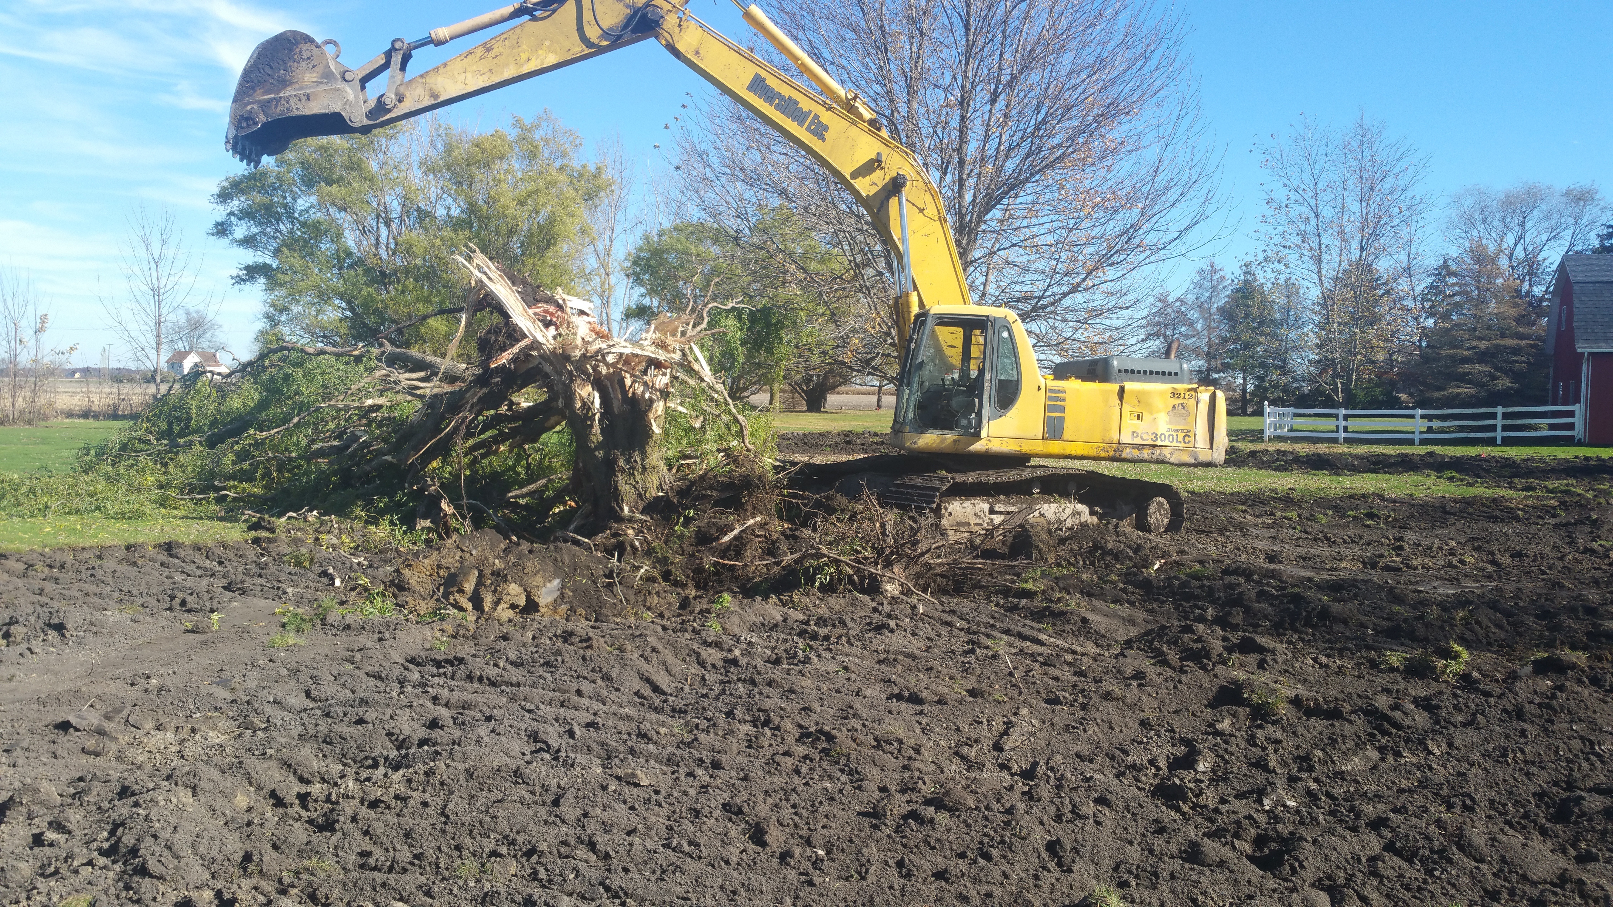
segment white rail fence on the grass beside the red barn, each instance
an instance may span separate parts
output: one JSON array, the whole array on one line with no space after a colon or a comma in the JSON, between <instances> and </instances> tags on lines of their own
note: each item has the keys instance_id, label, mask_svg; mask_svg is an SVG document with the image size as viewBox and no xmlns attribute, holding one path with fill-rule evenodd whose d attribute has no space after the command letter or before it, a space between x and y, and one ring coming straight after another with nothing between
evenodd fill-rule
<instances>
[{"instance_id":1,"label":"white rail fence on the grass beside the red barn","mask_svg":"<svg viewBox=\"0 0 1613 907\"><path fill-rule=\"evenodd\" d=\"M1573 424L1573 428L1561 428ZM1363 431L1365 429L1365 431ZM1387 431L1386 431L1387 429ZM1482 437L1586 439L1584 412L1573 407L1494 407L1482 410L1298 410L1265 405L1265 437L1287 441L1445 441Z\"/></svg>"}]
</instances>

